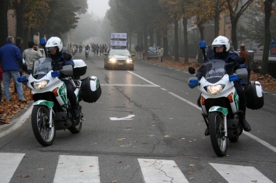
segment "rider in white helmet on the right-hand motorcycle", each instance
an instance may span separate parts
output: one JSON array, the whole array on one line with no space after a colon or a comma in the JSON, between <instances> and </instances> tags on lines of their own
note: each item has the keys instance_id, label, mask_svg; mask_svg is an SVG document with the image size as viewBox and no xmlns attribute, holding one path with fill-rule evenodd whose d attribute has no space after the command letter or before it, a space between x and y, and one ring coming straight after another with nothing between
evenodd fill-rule
<instances>
[{"instance_id":1,"label":"rider in white helmet on the right-hand motorcycle","mask_svg":"<svg viewBox=\"0 0 276 183\"><path fill-rule=\"evenodd\" d=\"M218 36L215 38L215 40L212 43L214 55L207 59L206 63L210 60L214 59L221 59L224 60L226 63L226 73L228 75L232 75L233 72L235 72L236 69L239 69L239 62L237 61L237 58L239 58L239 55L234 54L232 52L229 52L230 50L230 41L225 36ZM204 72L204 65L201 65L201 67L197 71L196 77L200 80L203 72ZM235 81L234 87L237 91L237 94L239 96L239 109L243 111L244 119L241 122L242 127L244 128L244 131L250 131L251 127L246 121L246 96L244 95L244 91L242 87ZM205 136L209 136L209 129L207 127L205 131Z\"/></svg>"}]
</instances>

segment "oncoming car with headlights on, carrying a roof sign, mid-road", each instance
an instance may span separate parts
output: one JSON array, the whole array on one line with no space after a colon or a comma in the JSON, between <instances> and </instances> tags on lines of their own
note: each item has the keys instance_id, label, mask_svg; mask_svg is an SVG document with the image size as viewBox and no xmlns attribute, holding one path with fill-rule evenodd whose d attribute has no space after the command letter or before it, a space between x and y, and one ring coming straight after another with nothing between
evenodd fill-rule
<instances>
[{"instance_id":1,"label":"oncoming car with headlights on, carrying a roof sign, mid-road","mask_svg":"<svg viewBox=\"0 0 276 183\"><path fill-rule=\"evenodd\" d=\"M134 69L134 61L132 59L132 56L135 56L135 54L130 54L130 52L124 47L111 47L104 55L104 68L106 69Z\"/></svg>"}]
</instances>

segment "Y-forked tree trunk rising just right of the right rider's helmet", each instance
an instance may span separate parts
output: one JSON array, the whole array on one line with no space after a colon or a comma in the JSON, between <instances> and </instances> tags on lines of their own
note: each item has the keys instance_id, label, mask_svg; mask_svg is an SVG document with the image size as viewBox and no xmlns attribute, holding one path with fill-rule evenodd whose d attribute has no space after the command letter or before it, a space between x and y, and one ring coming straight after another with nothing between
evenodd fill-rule
<instances>
[{"instance_id":1,"label":"Y-forked tree trunk rising just right of the right rider's helmet","mask_svg":"<svg viewBox=\"0 0 276 183\"><path fill-rule=\"evenodd\" d=\"M234 47L237 46L237 22L239 21L239 18L242 16L244 11L253 3L254 0L247 0L245 3L243 3L242 0L226 0L228 3L228 10L230 15L230 21L231 21L231 37L232 37L232 45ZM243 4L242 4L243 3Z\"/></svg>"}]
</instances>

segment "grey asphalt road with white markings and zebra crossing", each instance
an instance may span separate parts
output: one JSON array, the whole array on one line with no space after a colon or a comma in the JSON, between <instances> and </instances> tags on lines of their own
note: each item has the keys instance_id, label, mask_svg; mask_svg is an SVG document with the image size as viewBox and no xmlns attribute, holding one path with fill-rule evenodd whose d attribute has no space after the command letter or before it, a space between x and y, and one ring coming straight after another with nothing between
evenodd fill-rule
<instances>
[{"instance_id":1,"label":"grey asphalt road with white markings and zebra crossing","mask_svg":"<svg viewBox=\"0 0 276 183\"><path fill-rule=\"evenodd\" d=\"M187 71L142 60L131 72L106 70L91 54L86 64L82 78L97 76L102 94L81 102L81 132L57 131L51 147L34 138L30 118L0 132L0 182L276 182L275 92L248 109L252 131L218 158Z\"/></svg>"}]
</instances>

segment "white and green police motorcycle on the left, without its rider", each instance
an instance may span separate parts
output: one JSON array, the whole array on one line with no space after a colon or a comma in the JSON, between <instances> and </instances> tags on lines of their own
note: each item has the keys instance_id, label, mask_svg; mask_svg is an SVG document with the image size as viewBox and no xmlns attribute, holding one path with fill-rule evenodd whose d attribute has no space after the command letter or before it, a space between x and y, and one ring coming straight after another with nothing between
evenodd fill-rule
<instances>
[{"instance_id":1,"label":"white and green police motorcycle on the left, without its rider","mask_svg":"<svg viewBox=\"0 0 276 183\"><path fill-rule=\"evenodd\" d=\"M97 77L90 76L84 80L80 78L86 74L87 66L84 61L74 60L74 68L72 65L65 65L57 72L52 71L51 63L51 58L38 58L34 61L30 76L26 74L18 78L21 83L28 82L28 87L31 89L31 97L34 100L31 116L32 131L37 141L44 147L54 142L56 130L68 129L71 133L79 133L83 120L79 102L83 100L93 103L101 96ZM70 80L75 88L74 93L81 114L79 119L75 119L72 115L66 85L58 78L61 74L68 76L66 79ZM89 101L83 99L88 96Z\"/></svg>"}]
</instances>

